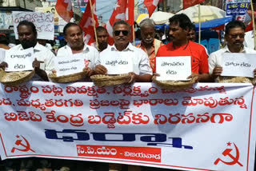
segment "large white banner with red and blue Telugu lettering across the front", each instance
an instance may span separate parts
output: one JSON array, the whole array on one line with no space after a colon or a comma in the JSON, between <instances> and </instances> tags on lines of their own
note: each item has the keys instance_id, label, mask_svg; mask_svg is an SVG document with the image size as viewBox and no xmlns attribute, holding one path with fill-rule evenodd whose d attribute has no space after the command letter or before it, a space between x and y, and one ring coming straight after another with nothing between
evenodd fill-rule
<instances>
[{"instance_id":1,"label":"large white banner with red and blue Telugu lettering across the front","mask_svg":"<svg viewBox=\"0 0 256 171\"><path fill-rule=\"evenodd\" d=\"M182 170L254 170L250 84L28 82L0 88L2 159L52 157ZM63 150L69 149L69 150Z\"/></svg>"}]
</instances>

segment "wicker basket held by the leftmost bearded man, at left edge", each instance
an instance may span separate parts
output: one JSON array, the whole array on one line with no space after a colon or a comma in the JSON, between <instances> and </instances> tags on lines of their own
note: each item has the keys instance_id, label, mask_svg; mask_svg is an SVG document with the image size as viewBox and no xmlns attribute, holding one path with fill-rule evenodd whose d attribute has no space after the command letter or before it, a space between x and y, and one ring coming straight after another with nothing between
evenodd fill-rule
<instances>
[{"instance_id":1,"label":"wicker basket held by the leftmost bearded man, at left edge","mask_svg":"<svg viewBox=\"0 0 256 171\"><path fill-rule=\"evenodd\" d=\"M34 77L35 71L6 72L0 69L0 82L4 85L20 85Z\"/></svg>"}]
</instances>

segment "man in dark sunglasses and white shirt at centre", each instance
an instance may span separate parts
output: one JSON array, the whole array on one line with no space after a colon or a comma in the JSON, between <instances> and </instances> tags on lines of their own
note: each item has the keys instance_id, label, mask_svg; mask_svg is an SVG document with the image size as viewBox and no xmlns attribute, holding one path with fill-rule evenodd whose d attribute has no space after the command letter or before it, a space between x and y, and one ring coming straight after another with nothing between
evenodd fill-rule
<instances>
[{"instance_id":1,"label":"man in dark sunglasses and white shirt at centre","mask_svg":"<svg viewBox=\"0 0 256 171\"><path fill-rule=\"evenodd\" d=\"M130 25L125 21L115 22L113 25L114 45L103 50L100 54L102 58L118 55L132 58L134 72L130 72L131 82L150 82L152 77L152 69L147 54L130 44ZM125 54L125 55L124 55ZM98 65L95 67L96 74L107 74L105 66Z\"/></svg>"}]
</instances>

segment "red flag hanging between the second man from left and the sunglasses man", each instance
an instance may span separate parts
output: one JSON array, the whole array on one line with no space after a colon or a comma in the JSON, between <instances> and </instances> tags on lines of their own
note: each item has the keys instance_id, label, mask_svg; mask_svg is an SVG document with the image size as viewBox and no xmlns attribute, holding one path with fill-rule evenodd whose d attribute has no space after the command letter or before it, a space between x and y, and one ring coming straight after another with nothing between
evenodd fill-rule
<instances>
[{"instance_id":1,"label":"red flag hanging between the second man from left and the sunglasses man","mask_svg":"<svg viewBox=\"0 0 256 171\"><path fill-rule=\"evenodd\" d=\"M94 13L94 20L90 11L90 2ZM85 43L88 45L95 42L94 23L95 27L98 27L98 18L96 15L96 0L90 0L90 2L87 3L85 13L82 15L82 19L79 22L79 26L81 26L83 32L85 33Z\"/></svg>"}]
</instances>

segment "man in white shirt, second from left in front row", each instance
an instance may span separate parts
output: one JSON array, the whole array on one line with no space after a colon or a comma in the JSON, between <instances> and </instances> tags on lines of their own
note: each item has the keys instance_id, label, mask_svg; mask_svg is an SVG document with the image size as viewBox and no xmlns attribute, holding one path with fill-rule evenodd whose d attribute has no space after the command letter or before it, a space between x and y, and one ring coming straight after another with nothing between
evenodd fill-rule
<instances>
[{"instance_id":1,"label":"man in white shirt, second from left in front row","mask_svg":"<svg viewBox=\"0 0 256 171\"><path fill-rule=\"evenodd\" d=\"M84 70L86 70L90 76L98 62L98 50L83 42L82 28L78 24L69 22L64 27L63 34L67 45L58 50L57 56L70 57L73 54L82 54L85 62L88 62L88 67L85 67Z\"/></svg>"}]
</instances>

